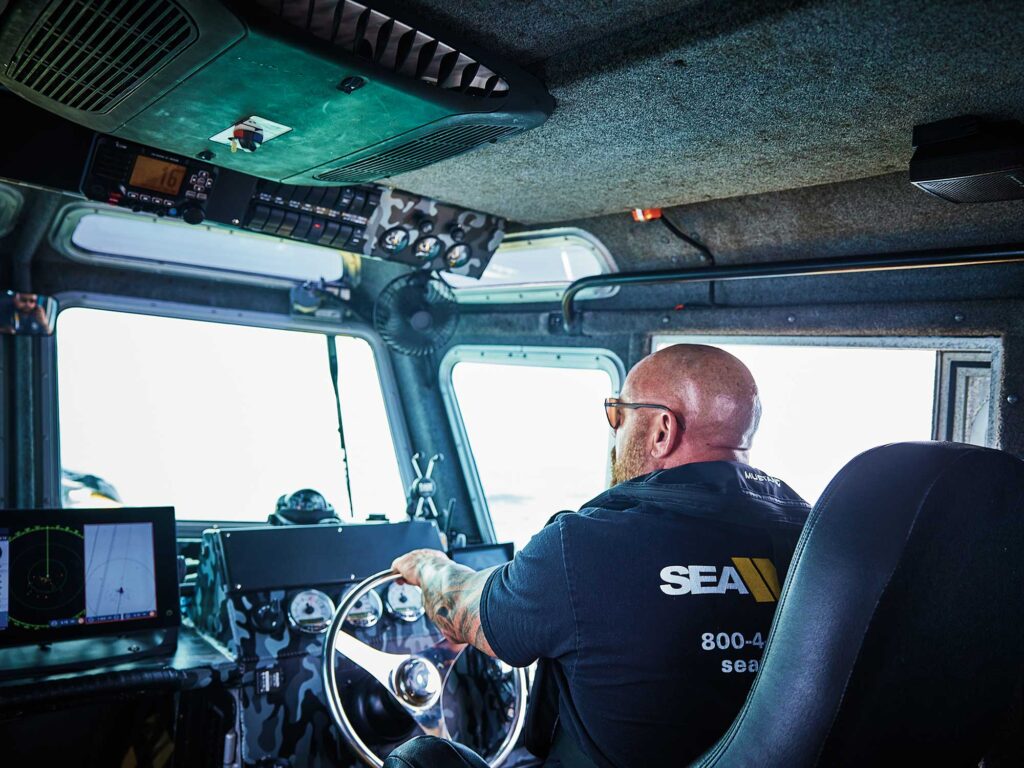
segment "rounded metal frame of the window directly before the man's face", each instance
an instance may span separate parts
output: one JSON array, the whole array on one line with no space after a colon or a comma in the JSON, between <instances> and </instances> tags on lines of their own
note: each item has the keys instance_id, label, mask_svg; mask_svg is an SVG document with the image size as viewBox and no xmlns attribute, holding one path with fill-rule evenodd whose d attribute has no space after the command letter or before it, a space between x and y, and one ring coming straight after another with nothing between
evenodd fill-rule
<instances>
[{"instance_id":1,"label":"rounded metal frame of the window directly before the man's face","mask_svg":"<svg viewBox=\"0 0 1024 768\"><path fill-rule=\"evenodd\" d=\"M529 366L534 368L567 368L603 371L611 380L611 389L617 394L626 380L626 367L610 349L603 347L545 347L503 344L459 344L441 358L438 383L444 411L447 414L452 439L455 441L463 479L469 494L473 514L481 539L487 544L498 542L490 507L487 505L480 482L480 473L469 442L469 433L462 418L459 398L455 391L453 374L460 362L489 362L500 366ZM596 407L595 407L596 408ZM598 416L600 416L598 414ZM609 440L610 440L609 436ZM609 442L610 446L610 442Z\"/></svg>"}]
</instances>

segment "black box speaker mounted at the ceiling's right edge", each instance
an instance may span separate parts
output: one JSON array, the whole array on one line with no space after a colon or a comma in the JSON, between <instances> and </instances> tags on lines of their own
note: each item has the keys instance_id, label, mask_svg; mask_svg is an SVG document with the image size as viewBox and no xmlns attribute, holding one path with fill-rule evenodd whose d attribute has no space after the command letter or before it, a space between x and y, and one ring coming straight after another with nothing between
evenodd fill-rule
<instances>
[{"instance_id":1,"label":"black box speaker mounted at the ceiling's right edge","mask_svg":"<svg viewBox=\"0 0 1024 768\"><path fill-rule=\"evenodd\" d=\"M974 115L913 129L910 182L950 203L1024 199L1024 126Z\"/></svg>"}]
</instances>

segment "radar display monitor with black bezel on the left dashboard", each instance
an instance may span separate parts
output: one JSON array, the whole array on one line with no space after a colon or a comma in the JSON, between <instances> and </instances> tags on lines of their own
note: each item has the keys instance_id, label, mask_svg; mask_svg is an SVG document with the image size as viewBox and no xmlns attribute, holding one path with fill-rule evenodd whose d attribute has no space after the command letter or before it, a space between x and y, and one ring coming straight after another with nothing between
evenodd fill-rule
<instances>
[{"instance_id":1,"label":"radar display monitor with black bezel on the left dashboard","mask_svg":"<svg viewBox=\"0 0 1024 768\"><path fill-rule=\"evenodd\" d=\"M0 645L176 625L173 515L0 512Z\"/></svg>"}]
</instances>

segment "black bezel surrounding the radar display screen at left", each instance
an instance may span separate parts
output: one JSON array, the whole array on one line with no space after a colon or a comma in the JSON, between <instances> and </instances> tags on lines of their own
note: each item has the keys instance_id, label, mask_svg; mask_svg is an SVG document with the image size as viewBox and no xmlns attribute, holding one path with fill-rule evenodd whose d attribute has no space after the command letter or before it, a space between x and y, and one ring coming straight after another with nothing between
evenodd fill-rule
<instances>
[{"instance_id":1,"label":"black bezel surrounding the radar display screen at left","mask_svg":"<svg viewBox=\"0 0 1024 768\"><path fill-rule=\"evenodd\" d=\"M125 635L130 632L180 626L181 609L178 602L177 543L173 508L0 510L0 529L8 531L28 525L84 526L131 522L153 525L154 574L157 588L156 616L96 624L77 624L41 630L16 628L8 624L7 629L0 630L0 648Z\"/></svg>"}]
</instances>

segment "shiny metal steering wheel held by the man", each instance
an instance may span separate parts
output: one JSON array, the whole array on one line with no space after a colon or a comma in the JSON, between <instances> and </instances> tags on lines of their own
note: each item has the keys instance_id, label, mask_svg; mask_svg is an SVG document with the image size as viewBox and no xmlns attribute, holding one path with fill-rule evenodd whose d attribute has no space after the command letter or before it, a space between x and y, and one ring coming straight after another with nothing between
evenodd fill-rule
<instances>
[{"instance_id":1,"label":"shiny metal steering wheel held by the man","mask_svg":"<svg viewBox=\"0 0 1024 768\"><path fill-rule=\"evenodd\" d=\"M345 712L335 665L335 653L361 667L377 680L387 692L409 713L419 729L428 735L451 738L441 699L452 668L465 650L441 636L434 645L415 653L388 653L378 650L344 631L345 618L359 599L371 590L397 581L400 577L391 570L370 577L350 590L337 612L324 640L324 689L331 716L342 735L358 758L369 766L381 768L379 758L362 740ZM429 622L426 616L424 622ZM440 631L438 630L438 634ZM486 757L492 768L500 766L515 748L522 730L526 711L526 673L513 670L515 706L505 738L494 755Z\"/></svg>"}]
</instances>

